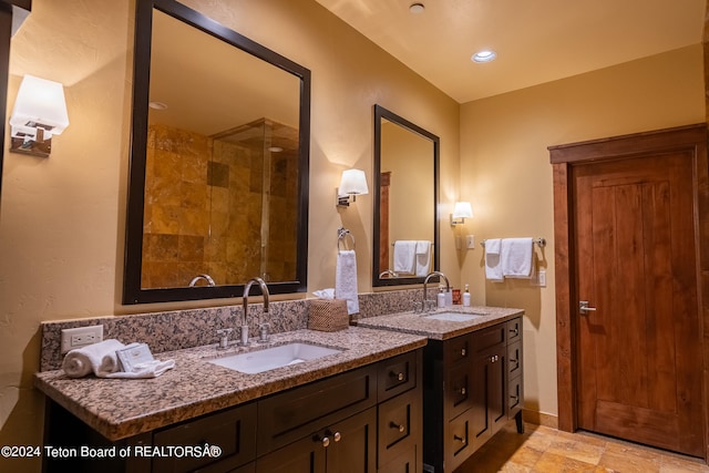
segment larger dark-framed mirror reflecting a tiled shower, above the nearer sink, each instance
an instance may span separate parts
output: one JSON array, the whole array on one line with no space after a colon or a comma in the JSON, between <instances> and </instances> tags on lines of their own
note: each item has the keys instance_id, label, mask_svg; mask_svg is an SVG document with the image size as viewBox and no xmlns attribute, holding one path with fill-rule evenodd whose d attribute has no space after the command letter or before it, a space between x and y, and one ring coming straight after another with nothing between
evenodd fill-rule
<instances>
[{"instance_id":1,"label":"larger dark-framed mirror reflecting a tiled shower, above the nearer sink","mask_svg":"<svg viewBox=\"0 0 709 473\"><path fill-rule=\"evenodd\" d=\"M310 71L137 0L123 304L306 290Z\"/></svg>"}]
</instances>

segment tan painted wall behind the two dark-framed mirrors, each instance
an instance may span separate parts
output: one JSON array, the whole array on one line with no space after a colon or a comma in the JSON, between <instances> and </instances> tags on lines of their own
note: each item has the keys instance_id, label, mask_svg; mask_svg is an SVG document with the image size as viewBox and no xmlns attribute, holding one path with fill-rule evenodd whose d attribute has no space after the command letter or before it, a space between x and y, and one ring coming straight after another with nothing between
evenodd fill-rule
<instances>
[{"instance_id":1,"label":"tan painted wall behind the two dark-framed mirrors","mask_svg":"<svg viewBox=\"0 0 709 473\"><path fill-rule=\"evenodd\" d=\"M340 172L363 168L371 185L372 105L380 103L441 137L443 185L456 187L459 105L315 1L185 3L311 70L308 287L333 285L337 228L343 225L357 238L360 291L371 290L371 194L347 210L337 210ZM55 138L48 160L6 153L0 209L0 444L41 444L42 398L32 389L40 321L197 305L120 304L132 4L34 0L32 14L12 40L9 106L25 73L61 81L66 85L71 124ZM442 259L445 267L454 255L443 250ZM219 302L225 301L209 304Z\"/></svg>"}]
</instances>

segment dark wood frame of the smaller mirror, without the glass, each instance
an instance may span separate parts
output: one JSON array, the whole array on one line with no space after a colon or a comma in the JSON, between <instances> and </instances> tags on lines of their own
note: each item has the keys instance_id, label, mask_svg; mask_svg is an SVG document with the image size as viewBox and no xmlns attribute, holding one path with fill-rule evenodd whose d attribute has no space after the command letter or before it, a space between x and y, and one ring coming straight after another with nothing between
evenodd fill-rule
<instances>
[{"instance_id":1,"label":"dark wood frame of the smaller mirror, without the glass","mask_svg":"<svg viewBox=\"0 0 709 473\"><path fill-rule=\"evenodd\" d=\"M440 148L441 138L438 135L422 128L409 120L384 109L380 104L374 104L374 163L373 163L373 187L374 187L374 212L372 229L372 287L405 286L423 284L425 277L409 278L380 278L382 269L379 267L379 251L381 243L380 234L380 199L381 199L381 132L382 120L395 123L402 128L409 130L423 138L430 140L433 144L433 270L440 270L441 264L441 238L440 238L440 213L439 213L439 173L440 173Z\"/></svg>"}]
</instances>

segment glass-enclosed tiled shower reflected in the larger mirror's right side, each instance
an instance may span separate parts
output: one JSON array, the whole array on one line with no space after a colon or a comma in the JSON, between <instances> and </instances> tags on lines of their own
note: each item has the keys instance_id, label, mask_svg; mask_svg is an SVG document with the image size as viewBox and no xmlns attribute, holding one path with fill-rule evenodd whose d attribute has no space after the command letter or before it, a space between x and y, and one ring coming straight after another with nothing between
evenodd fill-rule
<instances>
[{"instance_id":1,"label":"glass-enclosed tiled shower reflected in the larger mirror's right side","mask_svg":"<svg viewBox=\"0 0 709 473\"><path fill-rule=\"evenodd\" d=\"M212 137L215 168L229 168L229 198L247 203L228 206L226 216L213 210L215 225L227 219L227 234L214 238L226 244L228 282L295 278L296 234L288 229L297 227L298 130L260 119Z\"/></svg>"}]
</instances>

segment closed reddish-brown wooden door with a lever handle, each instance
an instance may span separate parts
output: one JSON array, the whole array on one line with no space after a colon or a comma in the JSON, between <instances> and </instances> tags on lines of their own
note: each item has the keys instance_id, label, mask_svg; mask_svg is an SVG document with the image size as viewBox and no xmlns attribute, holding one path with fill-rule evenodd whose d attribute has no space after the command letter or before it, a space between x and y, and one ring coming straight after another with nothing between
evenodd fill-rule
<instances>
[{"instance_id":1,"label":"closed reddish-brown wooden door with a lever handle","mask_svg":"<svg viewBox=\"0 0 709 473\"><path fill-rule=\"evenodd\" d=\"M572 311L595 309L572 317L578 426L703 455L691 163L676 151L572 168Z\"/></svg>"}]
</instances>

